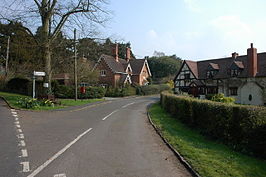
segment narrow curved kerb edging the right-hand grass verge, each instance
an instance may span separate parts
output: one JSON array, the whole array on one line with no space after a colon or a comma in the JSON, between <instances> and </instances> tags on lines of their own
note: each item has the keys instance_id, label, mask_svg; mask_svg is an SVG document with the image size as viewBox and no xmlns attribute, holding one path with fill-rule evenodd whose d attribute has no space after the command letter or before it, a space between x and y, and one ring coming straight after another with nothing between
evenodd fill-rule
<instances>
[{"instance_id":1,"label":"narrow curved kerb edging the right-hand grass verge","mask_svg":"<svg viewBox=\"0 0 266 177\"><path fill-rule=\"evenodd\" d=\"M150 124L153 126L153 128L155 129L156 133L162 138L162 140L164 141L164 143L168 146L168 148L170 148L170 150L175 154L175 156L178 158L178 160L185 166L185 168L190 172L190 174L194 177L201 177L198 172L196 172L192 166L185 160L185 158L179 153L177 152L177 150L175 150L175 148L163 137L162 133L160 132L160 130L157 128L157 126L152 122L151 120L151 116L149 113L149 108L153 105L154 103L151 103L147 106L147 117L149 119Z\"/></svg>"}]
</instances>

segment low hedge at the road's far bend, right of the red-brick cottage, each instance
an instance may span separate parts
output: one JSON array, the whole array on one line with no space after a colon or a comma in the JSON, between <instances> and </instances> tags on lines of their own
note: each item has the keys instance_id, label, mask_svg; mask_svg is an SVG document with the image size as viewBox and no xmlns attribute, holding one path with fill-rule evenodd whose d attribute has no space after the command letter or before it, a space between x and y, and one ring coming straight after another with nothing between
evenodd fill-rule
<instances>
[{"instance_id":1,"label":"low hedge at the road's far bend, right of the red-brick cottage","mask_svg":"<svg viewBox=\"0 0 266 177\"><path fill-rule=\"evenodd\" d=\"M137 88L138 95L152 95L159 94L164 90L171 90L171 87L167 84L160 85L145 85Z\"/></svg>"}]
</instances>

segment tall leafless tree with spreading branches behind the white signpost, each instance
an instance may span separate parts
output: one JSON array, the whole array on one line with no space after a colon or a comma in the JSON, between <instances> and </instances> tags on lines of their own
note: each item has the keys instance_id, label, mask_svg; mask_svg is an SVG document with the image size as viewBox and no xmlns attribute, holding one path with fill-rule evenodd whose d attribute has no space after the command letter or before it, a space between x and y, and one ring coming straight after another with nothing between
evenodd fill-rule
<instances>
[{"instance_id":1,"label":"tall leafless tree with spreading branches behind the white signpost","mask_svg":"<svg viewBox=\"0 0 266 177\"><path fill-rule=\"evenodd\" d=\"M9 21L20 21L34 36L32 30L40 27L40 36L36 39L42 48L45 82L51 91L51 56L52 43L63 27L77 27L81 30L103 24L108 17L107 0L3 0L0 5L0 18ZM73 29L73 28L72 28ZM72 30L71 29L71 30ZM91 32L88 30L87 32Z\"/></svg>"}]
</instances>

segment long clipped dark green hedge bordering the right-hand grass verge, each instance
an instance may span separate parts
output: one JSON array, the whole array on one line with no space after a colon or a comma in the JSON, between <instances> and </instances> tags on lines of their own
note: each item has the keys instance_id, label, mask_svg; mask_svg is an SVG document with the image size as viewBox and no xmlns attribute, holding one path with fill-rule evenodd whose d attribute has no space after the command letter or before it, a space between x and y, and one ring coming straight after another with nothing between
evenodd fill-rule
<instances>
[{"instance_id":1,"label":"long clipped dark green hedge bordering the right-hand grass verge","mask_svg":"<svg viewBox=\"0 0 266 177\"><path fill-rule=\"evenodd\" d=\"M266 158L266 108L161 93L162 107L204 135Z\"/></svg>"}]
</instances>

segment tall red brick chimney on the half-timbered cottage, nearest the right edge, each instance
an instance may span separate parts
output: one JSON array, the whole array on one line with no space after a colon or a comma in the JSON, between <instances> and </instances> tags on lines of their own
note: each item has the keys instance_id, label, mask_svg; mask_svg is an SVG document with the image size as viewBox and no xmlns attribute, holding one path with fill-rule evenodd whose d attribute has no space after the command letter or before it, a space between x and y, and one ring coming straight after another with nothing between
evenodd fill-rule
<instances>
[{"instance_id":1,"label":"tall red brick chimney on the half-timbered cottage, nearest the right edge","mask_svg":"<svg viewBox=\"0 0 266 177\"><path fill-rule=\"evenodd\" d=\"M258 72L258 55L257 49L253 48L253 43L250 44L250 48L247 49L248 56L248 75L249 77L255 77Z\"/></svg>"}]
</instances>

